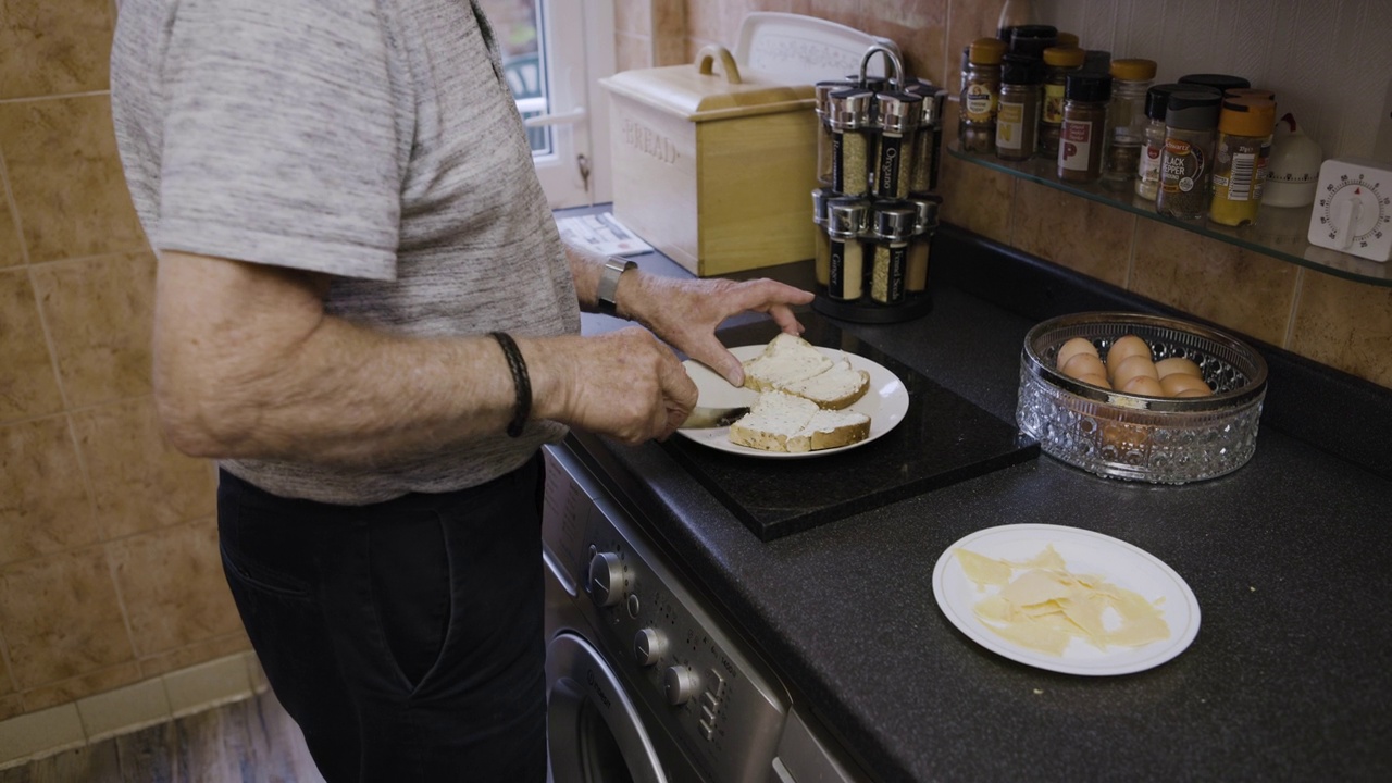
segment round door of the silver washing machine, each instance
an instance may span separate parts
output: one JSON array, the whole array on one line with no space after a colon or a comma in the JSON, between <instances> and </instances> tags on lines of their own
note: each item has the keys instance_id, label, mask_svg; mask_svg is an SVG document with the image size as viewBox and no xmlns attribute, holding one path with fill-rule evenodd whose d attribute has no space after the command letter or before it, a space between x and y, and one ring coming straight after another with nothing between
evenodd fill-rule
<instances>
[{"instance_id":1,"label":"round door of the silver washing machine","mask_svg":"<svg viewBox=\"0 0 1392 783\"><path fill-rule=\"evenodd\" d=\"M593 645L557 634L546 683L553 783L667 783L638 709Z\"/></svg>"}]
</instances>

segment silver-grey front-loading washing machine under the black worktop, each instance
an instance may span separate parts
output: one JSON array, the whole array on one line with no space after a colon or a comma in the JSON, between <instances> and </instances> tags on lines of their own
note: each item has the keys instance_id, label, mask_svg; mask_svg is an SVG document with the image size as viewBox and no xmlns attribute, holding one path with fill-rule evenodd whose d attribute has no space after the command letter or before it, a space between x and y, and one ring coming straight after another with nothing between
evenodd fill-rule
<instances>
[{"instance_id":1,"label":"silver-grey front-loading washing machine under the black worktop","mask_svg":"<svg viewBox=\"0 0 1392 783\"><path fill-rule=\"evenodd\" d=\"M544 450L551 780L859 780L571 443Z\"/></svg>"}]
</instances>

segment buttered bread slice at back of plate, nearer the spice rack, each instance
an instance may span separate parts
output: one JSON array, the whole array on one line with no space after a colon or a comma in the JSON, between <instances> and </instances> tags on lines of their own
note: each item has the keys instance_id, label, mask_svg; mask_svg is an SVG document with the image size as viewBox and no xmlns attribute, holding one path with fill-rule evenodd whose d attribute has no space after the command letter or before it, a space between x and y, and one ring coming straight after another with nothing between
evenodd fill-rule
<instances>
[{"instance_id":1,"label":"buttered bread slice at back of plate, nearer the spice rack","mask_svg":"<svg viewBox=\"0 0 1392 783\"><path fill-rule=\"evenodd\" d=\"M870 373L842 357L831 359L795 334L778 334L764 352L745 362L745 386L806 397L823 408L841 410L870 389Z\"/></svg>"}]
</instances>

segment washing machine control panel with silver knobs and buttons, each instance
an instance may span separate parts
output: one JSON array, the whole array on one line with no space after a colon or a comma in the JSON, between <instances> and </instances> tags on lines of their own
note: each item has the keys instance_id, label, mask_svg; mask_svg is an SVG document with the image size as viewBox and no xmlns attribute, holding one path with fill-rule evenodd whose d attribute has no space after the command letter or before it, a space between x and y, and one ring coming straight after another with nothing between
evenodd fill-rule
<instances>
[{"instance_id":1,"label":"washing machine control panel with silver knobs and buttons","mask_svg":"<svg viewBox=\"0 0 1392 783\"><path fill-rule=\"evenodd\" d=\"M548 465L543 538L574 578L593 644L704 779L766 780L786 694L593 476L565 463Z\"/></svg>"}]
</instances>

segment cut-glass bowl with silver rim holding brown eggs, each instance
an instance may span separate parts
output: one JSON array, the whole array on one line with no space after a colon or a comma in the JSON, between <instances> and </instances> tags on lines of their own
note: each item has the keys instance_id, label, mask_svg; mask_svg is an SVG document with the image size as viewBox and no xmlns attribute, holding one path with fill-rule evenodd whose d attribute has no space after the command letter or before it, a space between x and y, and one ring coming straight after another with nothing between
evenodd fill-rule
<instances>
[{"instance_id":1,"label":"cut-glass bowl with silver rim holding brown eggs","mask_svg":"<svg viewBox=\"0 0 1392 783\"><path fill-rule=\"evenodd\" d=\"M1086 337L1105 361L1119 337L1136 334L1154 361L1199 365L1210 397L1150 397L1093 386L1054 368L1058 348ZM1153 483L1229 474L1257 449L1267 362L1242 340L1172 318L1083 312L1030 329L1020 354L1015 421L1051 457L1089 472Z\"/></svg>"}]
</instances>

